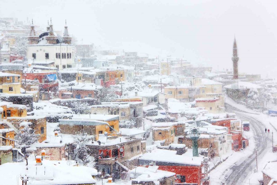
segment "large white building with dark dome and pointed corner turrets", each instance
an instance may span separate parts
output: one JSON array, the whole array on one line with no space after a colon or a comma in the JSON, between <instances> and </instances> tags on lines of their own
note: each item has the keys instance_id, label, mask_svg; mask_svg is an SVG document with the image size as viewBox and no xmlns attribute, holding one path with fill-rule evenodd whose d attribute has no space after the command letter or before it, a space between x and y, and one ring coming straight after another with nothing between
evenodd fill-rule
<instances>
[{"instance_id":1,"label":"large white building with dark dome and pointed corner turrets","mask_svg":"<svg viewBox=\"0 0 277 185\"><path fill-rule=\"evenodd\" d=\"M67 25L64 26L63 36L53 31L52 22L47 31L35 35L34 25L31 25L30 36L28 36L27 59L34 64L48 66L54 64L58 69L72 68L74 65L74 46L71 44Z\"/></svg>"}]
</instances>

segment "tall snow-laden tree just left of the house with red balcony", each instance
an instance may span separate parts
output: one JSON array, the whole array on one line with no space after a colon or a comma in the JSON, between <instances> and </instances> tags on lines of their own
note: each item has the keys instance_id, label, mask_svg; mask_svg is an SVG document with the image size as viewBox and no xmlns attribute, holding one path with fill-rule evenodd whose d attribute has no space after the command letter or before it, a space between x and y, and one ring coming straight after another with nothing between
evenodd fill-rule
<instances>
[{"instance_id":1,"label":"tall snow-laden tree just left of the house with red balcony","mask_svg":"<svg viewBox=\"0 0 277 185\"><path fill-rule=\"evenodd\" d=\"M83 162L83 165L86 166L88 158L90 157L90 149L86 146L86 143L91 140L91 137L89 137L87 133L82 130L79 134L74 135L74 140L76 142L74 149L74 158L79 158Z\"/></svg>"}]
</instances>

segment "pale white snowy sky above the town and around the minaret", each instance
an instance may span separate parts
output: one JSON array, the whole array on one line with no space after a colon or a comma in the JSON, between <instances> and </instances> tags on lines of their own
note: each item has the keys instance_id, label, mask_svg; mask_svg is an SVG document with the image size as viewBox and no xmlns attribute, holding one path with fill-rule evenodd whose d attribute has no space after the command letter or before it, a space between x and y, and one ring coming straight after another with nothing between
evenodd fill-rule
<instances>
[{"instance_id":1,"label":"pale white snowy sky above the town and around the minaret","mask_svg":"<svg viewBox=\"0 0 277 185\"><path fill-rule=\"evenodd\" d=\"M17 17L105 49L173 55L192 64L232 68L236 35L239 72L276 77L275 1L1 0L1 17Z\"/></svg>"}]
</instances>

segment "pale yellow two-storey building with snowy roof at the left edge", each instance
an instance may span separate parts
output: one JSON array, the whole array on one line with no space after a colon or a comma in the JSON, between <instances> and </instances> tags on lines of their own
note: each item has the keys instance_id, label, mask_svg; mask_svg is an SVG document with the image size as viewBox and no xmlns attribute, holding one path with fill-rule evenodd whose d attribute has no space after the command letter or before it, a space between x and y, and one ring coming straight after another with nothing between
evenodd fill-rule
<instances>
[{"instance_id":1,"label":"pale yellow two-storey building with snowy roof at the left edge","mask_svg":"<svg viewBox=\"0 0 277 185\"><path fill-rule=\"evenodd\" d=\"M0 93L20 94L20 75L0 72Z\"/></svg>"}]
</instances>

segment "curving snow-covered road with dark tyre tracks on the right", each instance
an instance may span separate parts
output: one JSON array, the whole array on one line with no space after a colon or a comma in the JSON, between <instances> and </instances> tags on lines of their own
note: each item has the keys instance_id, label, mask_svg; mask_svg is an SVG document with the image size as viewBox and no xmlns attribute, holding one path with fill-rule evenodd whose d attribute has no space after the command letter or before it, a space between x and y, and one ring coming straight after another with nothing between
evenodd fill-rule
<instances>
[{"instance_id":1,"label":"curving snow-covered road with dark tyre tracks on the right","mask_svg":"<svg viewBox=\"0 0 277 185\"><path fill-rule=\"evenodd\" d=\"M268 137L268 133L265 133L265 127L263 126L263 123L231 105L226 104L226 109L227 112L234 111L237 117L240 119L251 122L251 130L254 132L255 148L257 151L259 167L259 159L262 158L268 150L270 150L270 147L268 146L271 143L271 138ZM227 185L246 183L249 180L248 177L251 175L251 173L254 173L255 169L256 152L254 151L252 154L242 158L230 167L231 173L229 171L229 175L227 175L228 177L225 180L225 183Z\"/></svg>"}]
</instances>

